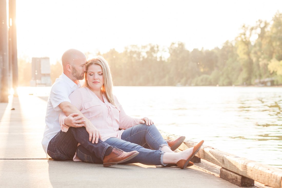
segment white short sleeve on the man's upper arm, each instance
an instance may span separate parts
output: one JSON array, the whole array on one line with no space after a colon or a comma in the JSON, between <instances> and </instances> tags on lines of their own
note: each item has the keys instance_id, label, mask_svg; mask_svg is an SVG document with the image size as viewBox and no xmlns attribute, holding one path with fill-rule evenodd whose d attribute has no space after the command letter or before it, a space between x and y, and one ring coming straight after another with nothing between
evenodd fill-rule
<instances>
[{"instance_id":1,"label":"white short sleeve on the man's upper arm","mask_svg":"<svg viewBox=\"0 0 282 188\"><path fill-rule=\"evenodd\" d=\"M61 104L62 102L70 102L68 93L66 91L68 91L66 84L58 83L52 87L50 91L50 102L54 110L61 110L59 108L59 104Z\"/></svg>"}]
</instances>

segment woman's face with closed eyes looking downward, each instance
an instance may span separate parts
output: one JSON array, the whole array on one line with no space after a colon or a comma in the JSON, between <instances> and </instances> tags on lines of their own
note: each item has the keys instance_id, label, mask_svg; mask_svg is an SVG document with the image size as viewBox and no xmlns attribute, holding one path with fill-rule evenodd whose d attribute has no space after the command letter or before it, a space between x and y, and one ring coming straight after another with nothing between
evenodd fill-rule
<instances>
[{"instance_id":1,"label":"woman's face with closed eyes looking downward","mask_svg":"<svg viewBox=\"0 0 282 188\"><path fill-rule=\"evenodd\" d=\"M87 70L87 82L89 87L94 91L100 91L103 84L103 70L100 65L93 64Z\"/></svg>"}]
</instances>

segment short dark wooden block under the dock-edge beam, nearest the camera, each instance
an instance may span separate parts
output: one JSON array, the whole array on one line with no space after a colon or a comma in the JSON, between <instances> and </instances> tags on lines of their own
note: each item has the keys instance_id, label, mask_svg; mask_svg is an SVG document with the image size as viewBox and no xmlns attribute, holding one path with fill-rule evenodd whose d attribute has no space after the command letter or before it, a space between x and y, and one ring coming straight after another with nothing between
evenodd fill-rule
<instances>
[{"instance_id":1,"label":"short dark wooden block under the dock-edge beam, nearest the camera","mask_svg":"<svg viewBox=\"0 0 282 188\"><path fill-rule=\"evenodd\" d=\"M250 187L250 186L254 186L255 184L254 180L247 178L245 176L241 176L224 168L220 169L220 177L235 185L238 185L239 187Z\"/></svg>"}]
</instances>

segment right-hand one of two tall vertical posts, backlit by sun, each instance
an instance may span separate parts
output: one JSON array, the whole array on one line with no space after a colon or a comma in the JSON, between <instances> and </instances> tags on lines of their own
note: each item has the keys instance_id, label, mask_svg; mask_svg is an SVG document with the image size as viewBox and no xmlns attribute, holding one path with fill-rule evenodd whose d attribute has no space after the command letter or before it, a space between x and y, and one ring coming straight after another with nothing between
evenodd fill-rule
<instances>
[{"instance_id":1,"label":"right-hand one of two tall vertical posts, backlit by sun","mask_svg":"<svg viewBox=\"0 0 282 188\"><path fill-rule=\"evenodd\" d=\"M11 54L12 75L13 75L13 89L14 95L17 95L18 87L18 66L17 66L17 25L16 25L16 0L9 0L9 17L10 17L10 29L9 40L11 39L11 48L9 53Z\"/></svg>"}]
</instances>

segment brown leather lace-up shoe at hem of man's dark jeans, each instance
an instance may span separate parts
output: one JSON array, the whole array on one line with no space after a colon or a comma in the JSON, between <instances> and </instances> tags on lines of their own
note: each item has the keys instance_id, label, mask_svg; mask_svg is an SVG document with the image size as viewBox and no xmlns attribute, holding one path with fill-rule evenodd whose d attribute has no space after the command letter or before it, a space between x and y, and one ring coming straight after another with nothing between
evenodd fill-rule
<instances>
[{"instance_id":1,"label":"brown leather lace-up shoe at hem of man's dark jeans","mask_svg":"<svg viewBox=\"0 0 282 188\"><path fill-rule=\"evenodd\" d=\"M123 163L134 158L138 154L138 151L125 152L121 149L114 148L109 155L104 156L103 167L109 167L118 163Z\"/></svg>"}]
</instances>

